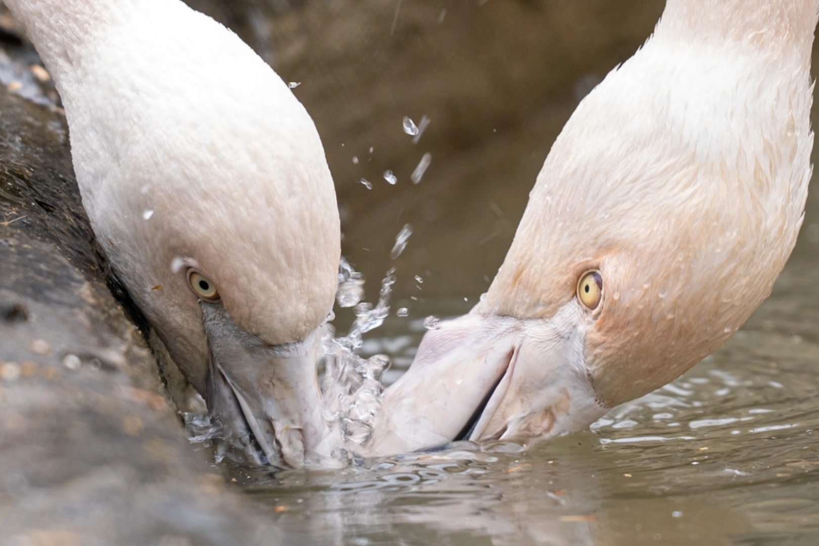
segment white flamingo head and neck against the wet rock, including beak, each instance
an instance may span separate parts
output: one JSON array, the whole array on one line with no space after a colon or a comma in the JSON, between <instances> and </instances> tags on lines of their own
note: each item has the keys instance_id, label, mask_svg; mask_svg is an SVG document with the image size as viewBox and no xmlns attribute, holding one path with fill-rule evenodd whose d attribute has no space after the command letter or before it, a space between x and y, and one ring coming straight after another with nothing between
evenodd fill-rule
<instances>
[{"instance_id":1,"label":"white flamingo head and neck against the wet rock, including beak","mask_svg":"<svg viewBox=\"0 0 819 546\"><path fill-rule=\"evenodd\" d=\"M271 460L277 444L296 466L325 458L311 332L332 309L341 245L310 116L179 0L7 5L61 94L94 232L174 361L238 440L249 426ZM197 300L193 270L217 303Z\"/></svg>"}]
</instances>

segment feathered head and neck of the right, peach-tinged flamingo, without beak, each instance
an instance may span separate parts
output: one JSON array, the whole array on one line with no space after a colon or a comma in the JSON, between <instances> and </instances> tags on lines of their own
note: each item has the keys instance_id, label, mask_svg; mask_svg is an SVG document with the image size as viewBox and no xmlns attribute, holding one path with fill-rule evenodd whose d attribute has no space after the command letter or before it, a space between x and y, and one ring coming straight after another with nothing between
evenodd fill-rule
<instances>
[{"instance_id":1,"label":"feathered head and neck of the right, peach-tinged flamingo, without beak","mask_svg":"<svg viewBox=\"0 0 819 546\"><path fill-rule=\"evenodd\" d=\"M577 107L479 314L550 318L599 268L586 338L607 405L739 328L794 247L812 168L817 0L670 0Z\"/></svg>"}]
</instances>

